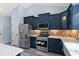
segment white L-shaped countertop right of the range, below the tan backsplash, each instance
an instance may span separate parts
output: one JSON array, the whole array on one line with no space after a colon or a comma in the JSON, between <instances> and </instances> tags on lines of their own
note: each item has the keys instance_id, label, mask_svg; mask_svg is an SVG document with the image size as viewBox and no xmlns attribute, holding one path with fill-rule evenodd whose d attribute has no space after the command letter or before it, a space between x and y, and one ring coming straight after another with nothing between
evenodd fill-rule
<instances>
[{"instance_id":1,"label":"white L-shaped countertop right of the range, below the tan backsplash","mask_svg":"<svg viewBox=\"0 0 79 59\"><path fill-rule=\"evenodd\" d=\"M79 56L79 40L62 36L49 36L48 38L60 38L71 56Z\"/></svg>"}]
</instances>

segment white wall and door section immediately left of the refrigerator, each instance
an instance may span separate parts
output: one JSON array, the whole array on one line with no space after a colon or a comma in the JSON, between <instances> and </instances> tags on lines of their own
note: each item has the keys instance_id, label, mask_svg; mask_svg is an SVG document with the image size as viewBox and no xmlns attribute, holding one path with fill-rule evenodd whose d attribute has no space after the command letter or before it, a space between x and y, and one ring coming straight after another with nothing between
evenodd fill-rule
<instances>
[{"instance_id":1,"label":"white wall and door section immediately left of the refrigerator","mask_svg":"<svg viewBox=\"0 0 79 59\"><path fill-rule=\"evenodd\" d=\"M19 42L19 24L23 23L23 12L24 9L22 6L17 6L11 15L11 36L12 36L12 45L18 46Z\"/></svg>"}]
</instances>

